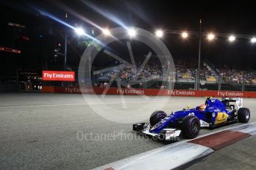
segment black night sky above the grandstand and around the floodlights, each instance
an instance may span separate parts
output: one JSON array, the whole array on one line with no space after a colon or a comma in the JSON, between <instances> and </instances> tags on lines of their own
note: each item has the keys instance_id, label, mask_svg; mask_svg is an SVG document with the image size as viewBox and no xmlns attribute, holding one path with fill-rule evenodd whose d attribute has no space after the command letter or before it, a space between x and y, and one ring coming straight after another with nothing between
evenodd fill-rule
<instances>
[{"instance_id":1,"label":"black night sky above the grandstand and around the floodlights","mask_svg":"<svg viewBox=\"0 0 256 170\"><path fill-rule=\"evenodd\" d=\"M198 31L199 20L203 21L203 32L243 34L256 36L256 10L251 1L1 1L1 47L15 47L21 55L1 52L1 67L45 67L60 66L62 61L53 61L56 44L63 43L65 26L42 16L39 11L65 19L68 24L91 30L94 26L85 22L93 21L100 27L119 27L119 23L106 16L118 18L126 26L141 27L154 32L163 30ZM94 8L101 10L100 14ZM84 20L84 21L82 21ZM24 35L30 41L16 40L8 22L26 26ZM69 31L68 64L77 66L82 51L77 48L77 37ZM164 43L174 59L192 58L197 60L198 38L191 35L184 41L180 35L165 34ZM72 56L72 58L70 57ZM17 59L18 58L18 59ZM217 37L213 42L203 37L202 58L213 64L239 65L256 69L256 44L249 39L237 38L232 44L226 38ZM4 63L4 64L3 64ZM7 64L6 64L7 63Z\"/></svg>"}]
</instances>

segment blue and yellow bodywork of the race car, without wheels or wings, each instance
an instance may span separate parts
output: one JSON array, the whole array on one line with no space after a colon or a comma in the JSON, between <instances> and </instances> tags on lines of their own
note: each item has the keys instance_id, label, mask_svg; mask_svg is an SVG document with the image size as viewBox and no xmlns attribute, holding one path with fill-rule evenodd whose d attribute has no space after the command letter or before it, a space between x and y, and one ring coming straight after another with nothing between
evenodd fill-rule
<instances>
[{"instance_id":1,"label":"blue and yellow bodywork of the race car, without wheels or wings","mask_svg":"<svg viewBox=\"0 0 256 170\"><path fill-rule=\"evenodd\" d=\"M221 114L217 116L218 114ZM187 115L194 115L199 120L203 120L209 126L217 126L221 123L226 123L228 120L233 118L234 112L232 110L226 109L225 103L218 99L210 99L206 100L206 109L204 111L199 110L199 106L194 109L183 109L181 111L172 112L170 115L165 117L155 126L153 126L149 132L151 133L160 133L164 128L174 128L177 129L180 126L183 118ZM225 117L221 121L221 123L216 123L217 118Z\"/></svg>"}]
</instances>

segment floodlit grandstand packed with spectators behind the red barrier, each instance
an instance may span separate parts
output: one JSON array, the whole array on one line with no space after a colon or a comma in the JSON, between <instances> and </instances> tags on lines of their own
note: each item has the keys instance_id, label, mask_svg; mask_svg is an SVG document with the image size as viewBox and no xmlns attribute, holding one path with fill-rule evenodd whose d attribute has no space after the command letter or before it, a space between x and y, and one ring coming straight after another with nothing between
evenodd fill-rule
<instances>
[{"instance_id":1,"label":"floodlit grandstand packed with spectators behind the red barrier","mask_svg":"<svg viewBox=\"0 0 256 170\"><path fill-rule=\"evenodd\" d=\"M148 62L145 68L130 68L123 64L113 67L111 71L104 72L96 78L97 86L103 86L105 82L119 78L120 81L132 81L134 88L167 88L168 81L175 83L177 89L194 89L197 77L197 61L175 61L175 72L170 72L168 77L163 76L163 68L160 63ZM203 61L200 69L201 89L255 89L256 72L253 69L241 69L234 66L214 65L210 61ZM102 85L101 85L102 84ZM139 86L140 84L140 86ZM116 86L115 83L112 86Z\"/></svg>"}]
</instances>

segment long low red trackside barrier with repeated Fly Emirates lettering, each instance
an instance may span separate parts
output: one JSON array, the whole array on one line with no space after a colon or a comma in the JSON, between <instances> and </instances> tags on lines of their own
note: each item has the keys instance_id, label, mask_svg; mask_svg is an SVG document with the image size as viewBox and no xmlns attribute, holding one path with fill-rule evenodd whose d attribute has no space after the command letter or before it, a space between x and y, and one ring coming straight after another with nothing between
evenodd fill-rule
<instances>
[{"instance_id":1,"label":"long low red trackside barrier with repeated Fly Emirates lettering","mask_svg":"<svg viewBox=\"0 0 256 170\"><path fill-rule=\"evenodd\" d=\"M42 92L56 93L88 93L101 95L104 88L93 89L79 87L42 86ZM240 97L256 98L256 92L223 91L223 90L186 90L186 89L117 89L109 88L105 95L160 95L160 96L191 96L191 97Z\"/></svg>"}]
</instances>

